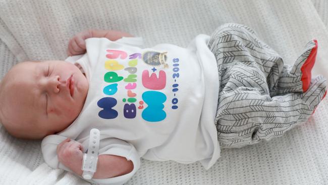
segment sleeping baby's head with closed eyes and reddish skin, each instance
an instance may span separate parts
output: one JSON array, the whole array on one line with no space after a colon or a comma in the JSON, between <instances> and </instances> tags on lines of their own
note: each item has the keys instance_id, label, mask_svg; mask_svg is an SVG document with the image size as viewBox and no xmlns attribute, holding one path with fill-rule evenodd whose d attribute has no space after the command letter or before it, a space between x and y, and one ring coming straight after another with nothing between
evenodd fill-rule
<instances>
[{"instance_id":1,"label":"sleeping baby's head with closed eyes and reddish skin","mask_svg":"<svg viewBox=\"0 0 328 185\"><path fill-rule=\"evenodd\" d=\"M86 77L69 62L22 62L0 83L0 122L19 138L60 132L81 112L88 88Z\"/></svg>"}]
</instances>

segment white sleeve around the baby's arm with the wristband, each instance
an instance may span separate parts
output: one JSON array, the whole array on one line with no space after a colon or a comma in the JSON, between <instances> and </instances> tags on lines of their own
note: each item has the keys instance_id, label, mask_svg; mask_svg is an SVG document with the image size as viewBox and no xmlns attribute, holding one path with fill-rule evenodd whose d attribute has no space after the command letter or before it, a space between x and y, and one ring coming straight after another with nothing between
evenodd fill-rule
<instances>
[{"instance_id":1,"label":"white sleeve around the baby's arm with the wristband","mask_svg":"<svg viewBox=\"0 0 328 185\"><path fill-rule=\"evenodd\" d=\"M41 150L44 161L52 168L61 168L72 172L69 168L59 162L57 157L57 145L63 142L67 137L62 135L48 135L43 138ZM89 182L96 182L99 184L123 184L127 182L140 168L140 157L133 145L119 140L117 138L103 138L100 141L99 155L116 155L125 157L133 163L133 170L125 175L116 176L112 178L91 179ZM73 173L73 172L72 172ZM80 176L83 178L82 176Z\"/></svg>"}]
</instances>

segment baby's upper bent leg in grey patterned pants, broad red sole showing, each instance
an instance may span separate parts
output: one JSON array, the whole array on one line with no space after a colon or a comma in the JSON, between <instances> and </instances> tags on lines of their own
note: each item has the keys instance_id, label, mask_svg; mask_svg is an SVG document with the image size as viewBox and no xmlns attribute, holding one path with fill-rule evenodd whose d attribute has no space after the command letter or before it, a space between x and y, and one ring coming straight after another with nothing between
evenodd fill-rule
<instances>
[{"instance_id":1,"label":"baby's upper bent leg in grey patterned pants, broad red sole showing","mask_svg":"<svg viewBox=\"0 0 328 185\"><path fill-rule=\"evenodd\" d=\"M317 42L308 42L295 64L287 66L280 55L260 40L251 28L230 23L214 31L208 47L216 57L219 78L231 65L256 63L258 73L266 78L265 85L272 97L306 91L311 80Z\"/></svg>"}]
</instances>

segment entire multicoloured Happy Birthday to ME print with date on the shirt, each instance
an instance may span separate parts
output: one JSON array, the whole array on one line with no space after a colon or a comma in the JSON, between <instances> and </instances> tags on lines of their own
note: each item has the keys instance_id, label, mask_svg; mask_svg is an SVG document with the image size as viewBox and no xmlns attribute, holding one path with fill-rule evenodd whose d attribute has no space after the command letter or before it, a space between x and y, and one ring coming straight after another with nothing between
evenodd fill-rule
<instances>
[{"instance_id":1,"label":"entire multicoloured Happy Birthday to ME print with date on the shirt","mask_svg":"<svg viewBox=\"0 0 328 185\"><path fill-rule=\"evenodd\" d=\"M148 122L159 122L166 119L166 110L171 109L171 106L172 109L178 108L176 105L178 104L176 93L178 92L179 86L179 83L176 81L177 79L173 79L175 82L173 84L171 93L174 94L174 97L172 99L172 105L170 105L168 108L166 106L168 106L171 100L166 102L167 96L163 94L163 92L158 91L164 89L167 84L165 69L160 70L160 68L157 68L161 65L163 65L165 68L168 67L168 64L166 63L167 52L159 53L154 51L146 51L143 54L133 53L128 55L128 53L125 51L110 50L109 48L107 49L106 53L104 54L106 58L102 61L102 67L107 70L104 72L105 74L102 73L104 74L103 80L104 82L107 82L107 84L105 84L106 86L103 86L102 90L105 96L110 97L101 98L97 102L97 106L100 108L98 112L98 116L100 118L115 119L119 117L118 112L122 114L122 105L124 104L123 116L125 118L136 118L138 108L138 111L142 111L142 119ZM138 62L141 62L141 65L144 66L142 61L150 65L150 68L153 68L151 69L152 71L150 71L150 68L147 70L141 70L139 68L138 70ZM173 62L175 64L173 64L174 68L172 70L175 72L174 74L176 74L176 76L173 76L173 78L178 78L179 59L174 59ZM141 81L144 88L140 86L142 89L136 89L137 83L140 83L140 76L138 76L140 73L142 73ZM149 73L151 74L149 75ZM171 77L169 76L169 78ZM125 96L121 96L123 91L121 92L120 90L124 90ZM142 93L141 97L139 93ZM118 94L120 94L120 96L118 96ZM142 98L142 101L140 98ZM118 105L117 100L122 100L122 102L120 101ZM122 115L120 115L120 118L121 117Z\"/></svg>"}]
</instances>

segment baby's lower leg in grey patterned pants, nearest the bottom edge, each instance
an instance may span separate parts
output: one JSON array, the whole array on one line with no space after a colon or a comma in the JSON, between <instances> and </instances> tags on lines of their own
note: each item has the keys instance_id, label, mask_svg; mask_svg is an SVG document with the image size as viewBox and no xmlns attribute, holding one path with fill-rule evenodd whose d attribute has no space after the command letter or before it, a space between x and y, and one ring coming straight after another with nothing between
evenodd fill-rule
<instances>
[{"instance_id":1,"label":"baby's lower leg in grey patterned pants, nearest the bottom edge","mask_svg":"<svg viewBox=\"0 0 328 185\"><path fill-rule=\"evenodd\" d=\"M227 84L238 84L241 78L249 80L243 73L251 69L243 69L231 69ZM233 91L224 90L215 119L218 141L222 148L234 148L281 136L306 121L324 95L322 76L312 80L303 94L296 92L270 98L247 85Z\"/></svg>"}]
</instances>

